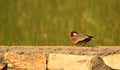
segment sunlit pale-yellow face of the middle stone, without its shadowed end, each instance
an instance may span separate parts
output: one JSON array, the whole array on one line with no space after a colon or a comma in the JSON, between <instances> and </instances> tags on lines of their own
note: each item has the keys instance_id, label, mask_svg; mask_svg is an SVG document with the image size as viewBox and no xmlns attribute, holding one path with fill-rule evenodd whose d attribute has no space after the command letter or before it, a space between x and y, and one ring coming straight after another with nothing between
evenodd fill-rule
<instances>
[{"instance_id":1,"label":"sunlit pale-yellow face of the middle stone, without its shadowed end","mask_svg":"<svg viewBox=\"0 0 120 70\"><path fill-rule=\"evenodd\" d=\"M90 60L94 56L80 56L50 53L48 58L49 70L89 70Z\"/></svg>"}]
</instances>

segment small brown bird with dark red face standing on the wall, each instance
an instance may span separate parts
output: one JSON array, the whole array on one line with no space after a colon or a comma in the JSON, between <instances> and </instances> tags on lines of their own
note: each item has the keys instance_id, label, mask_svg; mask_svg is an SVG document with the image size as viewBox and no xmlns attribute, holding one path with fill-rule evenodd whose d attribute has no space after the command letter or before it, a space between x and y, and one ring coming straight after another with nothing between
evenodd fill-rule
<instances>
[{"instance_id":1,"label":"small brown bird with dark red face standing on the wall","mask_svg":"<svg viewBox=\"0 0 120 70\"><path fill-rule=\"evenodd\" d=\"M80 45L80 44L85 45L93 38L93 36L87 34L78 34L78 32L76 31L72 31L70 33L70 36L72 37L73 43L75 43L76 45Z\"/></svg>"}]
</instances>

